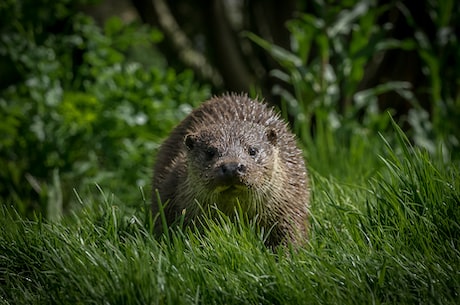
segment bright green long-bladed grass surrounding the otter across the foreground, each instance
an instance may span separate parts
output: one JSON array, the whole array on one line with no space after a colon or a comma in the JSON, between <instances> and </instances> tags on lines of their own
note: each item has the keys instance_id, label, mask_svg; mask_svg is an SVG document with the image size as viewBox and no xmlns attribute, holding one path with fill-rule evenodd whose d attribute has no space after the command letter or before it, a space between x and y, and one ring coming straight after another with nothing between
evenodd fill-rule
<instances>
[{"instance_id":1,"label":"bright green long-bladed grass surrounding the otter across the foreground","mask_svg":"<svg viewBox=\"0 0 460 305\"><path fill-rule=\"evenodd\" d=\"M307 148L311 231L298 250L268 250L251 224L224 217L201 234L155 239L147 199L132 210L102 190L54 223L3 207L0 302L458 304L458 164L413 148L399 130L395 138L372 139L376 154L342 148L334 159L331 148L327 165L325 147ZM324 174L356 160L355 182Z\"/></svg>"}]
</instances>

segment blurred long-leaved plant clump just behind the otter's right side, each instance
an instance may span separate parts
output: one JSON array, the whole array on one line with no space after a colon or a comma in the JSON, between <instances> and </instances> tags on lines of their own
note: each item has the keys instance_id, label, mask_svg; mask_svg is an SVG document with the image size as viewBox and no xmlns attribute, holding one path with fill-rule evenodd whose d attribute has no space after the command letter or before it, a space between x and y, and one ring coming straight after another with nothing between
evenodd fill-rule
<instances>
[{"instance_id":1,"label":"blurred long-leaved plant clump just behind the otter's right side","mask_svg":"<svg viewBox=\"0 0 460 305\"><path fill-rule=\"evenodd\" d=\"M292 51L273 46L252 33L247 34L284 68L272 74L292 85L295 95L281 87L274 90L287 102L286 111L294 116L296 132L302 138L310 134L314 118L327 122L334 129L358 128L359 115L367 120L364 127L388 126L388 116L379 114L375 97L390 90L404 90L408 85L388 83L358 92L365 63L378 51L376 42L384 36L384 29L376 26L381 10L372 8L372 2L361 1L354 7L346 6L340 14L318 17L303 14L291 20L287 26L291 32ZM341 109L341 105L345 109Z\"/></svg>"}]
</instances>

